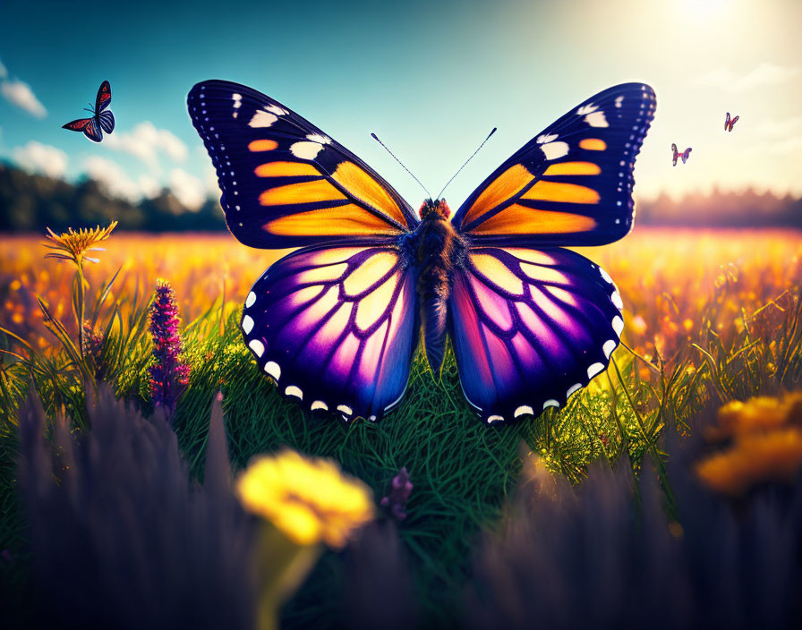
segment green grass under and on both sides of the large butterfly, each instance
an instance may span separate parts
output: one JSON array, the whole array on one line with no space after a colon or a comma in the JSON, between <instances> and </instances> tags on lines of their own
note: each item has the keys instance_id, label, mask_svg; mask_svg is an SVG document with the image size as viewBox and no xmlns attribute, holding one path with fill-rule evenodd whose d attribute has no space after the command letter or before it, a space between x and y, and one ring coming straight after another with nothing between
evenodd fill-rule
<instances>
[{"instance_id":1,"label":"green grass under and on both sides of the large butterfly","mask_svg":"<svg viewBox=\"0 0 802 630\"><path fill-rule=\"evenodd\" d=\"M16 340L4 340L4 347L19 353L22 360L6 355L0 364L0 549L15 553L23 549L14 492L15 410L31 381L45 401L48 417L64 411L76 429L85 425L83 391L94 387L92 374L98 372L99 363L118 395L147 408L148 304L139 302L125 321L116 314L115 305L103 321L98 319L108 334L94 363L81 364L64 339L60 339L62 352L47 357ZM773 344L755 336L745 314L742 331L729 342L703 328L682 356L648 363L654 378L647 380L639 375L646 362L620 347L607 375L599 377L605 387L583 390L559 412L549 410L537 419L488 427L462 396L450 350L439 382L422 356L416 357L404 403L378 423L346 424L338 416L305 413L260 373L241 341L238 313L230 312L224 319L218 303L184 330L192 377L175 413L175 429L192 472L200 474L209 404L221 390L235 468L243 467L252 455L289 446L334 458L346 472L366 481L378 501L398 469L406 466L414 490L409 516L399 526L400 538L410 558L422 615L446 624L456 615L472 544L483 528L498 523L527 449L575 483L584 478L593 460L612 464L621 456L636 470L644 457L651 457L662 477L666 455L659 450L658 439L666 426L682 429L705 404L799 386L798 294L790 304ZM714 321L714 315L707 313L705 321ZM691 364L694 370L687 369ZM25 562L13 566L15 573L6 579L23 588ZM286 610L288 625L325 618L329 607L337 605L329 595L338 591L341 579L337 555L329 553Z\"/></svg>"}]
</instances>

